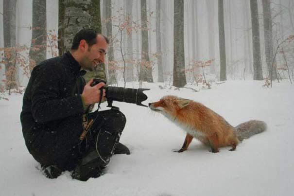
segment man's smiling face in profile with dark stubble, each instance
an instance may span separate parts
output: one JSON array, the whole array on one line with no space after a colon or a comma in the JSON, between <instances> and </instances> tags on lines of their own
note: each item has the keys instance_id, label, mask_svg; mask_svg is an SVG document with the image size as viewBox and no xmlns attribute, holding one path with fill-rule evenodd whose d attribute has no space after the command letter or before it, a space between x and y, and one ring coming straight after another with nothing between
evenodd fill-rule
<instances>
[{"instance_id":1,"label":"man's smiling face in profile with dark stubble","mask_svg":"<svg viewBox=\"0 0 294 196\"><path fill-rule=\"evenodd\" d=\"M96 39L96 44L93 44L90 47L86 43L84 55L82 58L81 66L83 69L88 71L93 71L98 64L104 63L104 55L106 54L107 43L104 37L101 35L98 35Z\"/></svg>"}]
</instances>

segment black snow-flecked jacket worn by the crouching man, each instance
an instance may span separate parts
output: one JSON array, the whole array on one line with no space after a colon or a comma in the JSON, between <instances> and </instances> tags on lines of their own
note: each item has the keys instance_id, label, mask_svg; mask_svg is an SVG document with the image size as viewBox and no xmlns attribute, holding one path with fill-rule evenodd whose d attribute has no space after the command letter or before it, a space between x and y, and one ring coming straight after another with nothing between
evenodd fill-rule
<instances>
[{"instance_id":1,"label":"black snow-flecked jacket worn by the crouching man","mask_svg":"<svg viewBox=\"0 0 294 196\"><path fill-rule=\"evenodd\" d=\"M79 63L67 52L41 62L32 71L20 120L26 146L41 163L56 163L56 151L63 150L59 148L65 147L63 143L70 140L70 134L81 132L79 119L84 107L80 94L85 80L80 69ZM78 119L78 125L73 126L70 121L76 120L70 119ZM75 127L77 130L72 130Z\"/></svg>"}]
</instances>

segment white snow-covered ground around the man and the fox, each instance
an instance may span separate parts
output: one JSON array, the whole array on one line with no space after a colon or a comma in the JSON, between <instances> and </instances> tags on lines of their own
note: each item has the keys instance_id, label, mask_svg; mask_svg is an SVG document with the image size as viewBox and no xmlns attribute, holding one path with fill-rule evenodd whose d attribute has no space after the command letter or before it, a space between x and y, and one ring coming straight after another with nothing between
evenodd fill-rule
<instances>
[{"instance_id":1,"label":"white snow-covered ground around the man and the fox","mask_svg":"<svg viewBox=\"0 0 294 196\"><path fill-rule=\"evenodd\" d=\"M211 153L193 140L188 151L174 153L185 132L147 107L114 103L127 123L121 143L131 155L115 155L105 175L86 182L69 172L48 179L37 170L21 132L22 95L0 100L0 195L1 196L290 196L294 185L294 85L263 81L226 81L212 89L142 88L148 100L174 94L193 99L222 115L231 125L263 120L268 130L237 146ZM134 86L133 86L134 85ZM138 88L129 84L130 88ZM194 87L195 88L195 87ZM105 104L104 104L105 105ZM105 106L103 106L106 109Z\"/></svg>"}]
</instances>

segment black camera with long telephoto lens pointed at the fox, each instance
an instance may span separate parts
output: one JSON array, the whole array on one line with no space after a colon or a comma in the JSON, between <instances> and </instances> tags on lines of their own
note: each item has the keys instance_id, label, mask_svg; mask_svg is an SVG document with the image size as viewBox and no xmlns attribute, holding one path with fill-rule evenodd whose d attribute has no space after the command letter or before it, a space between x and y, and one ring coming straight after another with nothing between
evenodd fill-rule
<instances>
[{"instance_id":1,"label":"black camera with long telephoto lens pointed at the fox","mask_svg":"<svg viewBox=\"0 0 294 196\"><path fill-rule=\"evenodd\" d=\"M97 85L98 83L105 83L103 89L105 89L105 97L107 99L108 106L113 107L113 101L126 102L131 104L137 104L138 106L144 106L141 104L142 101L145 101L148 97L143 93L144 90L150 89L130 89L123 87L111 87L106 85L106 81L100 80L98 78L94 78L93 83L91 83L91 87Z\"/></svg>"}]
</instances>

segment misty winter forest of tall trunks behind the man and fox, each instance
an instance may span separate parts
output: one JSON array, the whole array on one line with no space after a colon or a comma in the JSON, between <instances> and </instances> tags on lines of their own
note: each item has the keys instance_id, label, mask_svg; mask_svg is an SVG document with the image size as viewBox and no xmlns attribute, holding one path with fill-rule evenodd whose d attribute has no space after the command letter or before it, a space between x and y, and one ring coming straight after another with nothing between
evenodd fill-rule
<instances>
[{"instance_id":1,"label":"misty winter forest of tall trunks behind the man and fox","mask_svg":"<svg viewBox=\"0 0 294 196\"><path fill-rule=\"evenodd\" d=\"M21 91L34 66L68 51L83 28L110 39L97 71L113 85L210 88L253 79L271 86L294 78L293 0L1 1L1 93Z\"/></svg>"}]
</instances>

